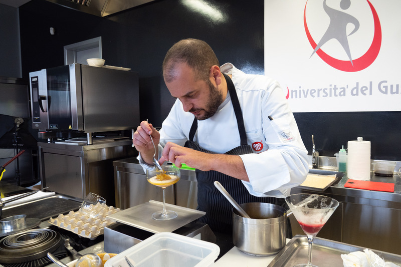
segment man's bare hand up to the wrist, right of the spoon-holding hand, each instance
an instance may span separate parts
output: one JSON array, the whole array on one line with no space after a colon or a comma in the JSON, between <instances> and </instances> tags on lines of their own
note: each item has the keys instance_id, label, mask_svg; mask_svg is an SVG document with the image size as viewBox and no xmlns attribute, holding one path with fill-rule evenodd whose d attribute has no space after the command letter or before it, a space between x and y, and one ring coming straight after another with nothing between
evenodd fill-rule
<instances>
[{"instance_id":1,"label":"man's bare hand up to the wrist, right of the spoon-holding hand","mask_svg":"<svg viewBox=\"0 0 401 267\"><path fill-rule=\"evenodd\" d=\"M159 163L163 164L164 161L169 160L178 168L181 168L181 164L185 163L191 168L208 171L211 169L211 164L208 163L208 155L211 154L167 142L164 146L162 156L159 159Z\"/></svg>"}]
</instances>

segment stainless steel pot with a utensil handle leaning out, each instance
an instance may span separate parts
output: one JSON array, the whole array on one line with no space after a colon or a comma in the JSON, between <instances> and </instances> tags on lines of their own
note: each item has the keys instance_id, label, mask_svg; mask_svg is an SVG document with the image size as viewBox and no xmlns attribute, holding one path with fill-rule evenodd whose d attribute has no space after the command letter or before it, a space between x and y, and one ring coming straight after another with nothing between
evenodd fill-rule
<instances>
[{"instance_id":1,"label":"stainless steel pot with a utensil handle leaning out","mask_svg":"<svg viewBox=\"0 0 401 267\"><path fill-rule=\"evenodd\" d=\"M278 253L286 244L287 210L269 203L243 203L240 206L251 217L245 218L233 208L233 243L245 253L268 256Z\"/></svg>"}]
</instances>

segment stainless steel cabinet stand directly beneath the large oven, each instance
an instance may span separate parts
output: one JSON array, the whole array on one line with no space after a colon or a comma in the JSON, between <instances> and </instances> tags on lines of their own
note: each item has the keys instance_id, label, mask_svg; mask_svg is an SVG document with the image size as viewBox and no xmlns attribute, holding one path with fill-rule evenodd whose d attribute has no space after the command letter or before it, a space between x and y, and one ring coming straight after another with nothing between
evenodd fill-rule
<instances>
[{"instance_id":1,"label":"stainless steel cabinet stand directly beneath the large oven","mask_svg":"<svg viewBox=\"0 0 401 267\"><path fill-rule=\"evenodd\" d=\"M38 143L42 184L81 199L93 192L114 206L112 161L133 156L131 145L129 139L93 140L91 145L71 140Z\"/></svg>"}]
</instances>

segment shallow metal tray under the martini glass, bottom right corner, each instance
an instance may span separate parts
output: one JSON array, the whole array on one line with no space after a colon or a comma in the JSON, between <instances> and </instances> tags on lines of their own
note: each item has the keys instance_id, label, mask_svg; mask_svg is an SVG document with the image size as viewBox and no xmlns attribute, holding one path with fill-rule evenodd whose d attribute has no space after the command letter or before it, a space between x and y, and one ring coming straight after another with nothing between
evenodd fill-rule
<instances>
[{"instance_id":1,"label":"shallow metal tray under the martini glass, bottom right corner","mask_svg":"<svg viewBox=\"0 0 401 267\"><path fill-rule=\"evenodd\" d=\"M341 254L363 251L365 247L315 237L312 245L312 264L319 267L343 266ZM384 261L401 265L401 255L370 249ZM294 266L308 261L308 239L295 235L270 262L268 267Z\"/></svg>"}]
</instances>

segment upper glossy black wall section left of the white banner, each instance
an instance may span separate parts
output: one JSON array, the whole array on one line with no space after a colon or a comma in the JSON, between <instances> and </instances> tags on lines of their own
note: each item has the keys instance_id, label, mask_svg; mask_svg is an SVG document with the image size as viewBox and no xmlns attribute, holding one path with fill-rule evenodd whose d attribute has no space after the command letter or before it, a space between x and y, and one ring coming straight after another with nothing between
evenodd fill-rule
<instances>
[{"instance_id":1,"label":"upper glossy black wall section left of the white banner","mask_svg":"<svg viewBox=\"0 0 401 267\"><path fill-rule=\"evenodd\" d=\"M175 42L202 39L215 49L222 64L231 62L252 73L264 71L263 1L210 3L224 11L223 22L192 12L178 0L154 1L108 18L33 0L20 7L23 77L64 65L65 45L101 36L106 65L139 73L140 97L146 100L141 101L141 119L161 126L173 103L163 90L161 63ZM50 27L56 35L50 35Z\"/></svg>"}]
</instances>

